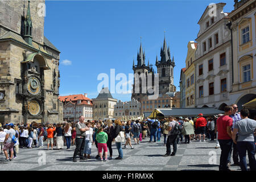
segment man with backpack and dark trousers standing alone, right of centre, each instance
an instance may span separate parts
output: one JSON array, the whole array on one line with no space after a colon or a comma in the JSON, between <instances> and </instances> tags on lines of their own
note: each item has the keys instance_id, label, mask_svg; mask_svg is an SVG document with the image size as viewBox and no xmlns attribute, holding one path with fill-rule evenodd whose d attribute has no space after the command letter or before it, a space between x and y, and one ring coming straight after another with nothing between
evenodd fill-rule
<instances>
[{"instance_id":1,"label":"man with backpack and dark trousers standing alone, right of centre","mask_svg":"<svg viewBox=\"0 0 256 182\"><path fill-rule=\"evenodd\" d=\"M175 133L175 127L180 126L180 124L175 121L173 117L169 117L170 123L168 125L168 137L166 142L166 154L163 156L175 156L177 152L177 133ZM174 148L174 151L171 153L171 144Z\"/></svg>"}]
</instances>

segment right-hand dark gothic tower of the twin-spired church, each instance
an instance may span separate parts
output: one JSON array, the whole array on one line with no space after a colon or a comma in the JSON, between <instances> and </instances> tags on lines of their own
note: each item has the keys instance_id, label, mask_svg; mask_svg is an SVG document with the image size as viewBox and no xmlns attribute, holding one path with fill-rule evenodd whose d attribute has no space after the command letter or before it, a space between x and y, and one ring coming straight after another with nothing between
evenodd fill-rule
<instances>
[{"instance_id":1,"label":"right-hand dark gothic tower of the twin-spired church","mask_svg":"<svg viewBox=\"0 0 256 182\"><path fill-rule=\"evenodd\" d=\"M156 56L155 65L159 74L159 94L167 92L176 92L174 86L174 57L171 60L170 47L167 48L166 37L164 36L163 47L160 49L161 60Z\"/></svg>"}]
</instances>

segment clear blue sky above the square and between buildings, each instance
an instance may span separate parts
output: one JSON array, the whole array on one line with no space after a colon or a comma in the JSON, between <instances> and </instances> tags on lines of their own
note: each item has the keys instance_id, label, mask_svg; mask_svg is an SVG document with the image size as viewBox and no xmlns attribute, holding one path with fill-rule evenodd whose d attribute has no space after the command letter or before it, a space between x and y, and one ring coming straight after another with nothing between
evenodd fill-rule
<instances>
[{"instance_id":1,"label":"clear blue sky above the square and between buildings","mask_svg":"<svg viewBox=\"0 0 256 182\"><path fill-rule=\"evenodd\" d=\"M196 39L197 22L205 8L218 2L226 3L225 13L233 10L233 0L46 1L44 35L61 52L60 96L88 93L89 98L96 98L101 82L97 77L100 73L110 76L110 69L115 69L115 75L124 73L128 78L133 73L133 59L137 64L141 42L146 63L149 60L155 64L156 56L160 58L164 31L175 59L174 85L179 90L187 44ZM112 95L122 101L131 97Z\"/></svg>"}]
</instances>

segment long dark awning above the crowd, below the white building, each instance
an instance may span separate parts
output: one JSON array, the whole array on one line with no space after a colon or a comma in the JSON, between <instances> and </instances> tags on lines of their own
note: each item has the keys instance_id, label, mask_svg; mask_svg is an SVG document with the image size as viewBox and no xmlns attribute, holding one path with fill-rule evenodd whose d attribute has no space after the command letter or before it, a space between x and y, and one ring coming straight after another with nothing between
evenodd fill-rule
<instances>
[{"instance_id":1,"label":"long dark awning above the crowd, below the white building","mask_svg":"<svg viewBox=\"0 0 256 182\"><path fill-rule=\"evenodd\" d=\"M217 114L224 114L224 111L218 110L214 107L203 107L203 108L159 108L152 111L149 118L155 118L156 115L159 117L196 117L202 113L204 116L213 116Z\"/></svg>"}]
</instances>

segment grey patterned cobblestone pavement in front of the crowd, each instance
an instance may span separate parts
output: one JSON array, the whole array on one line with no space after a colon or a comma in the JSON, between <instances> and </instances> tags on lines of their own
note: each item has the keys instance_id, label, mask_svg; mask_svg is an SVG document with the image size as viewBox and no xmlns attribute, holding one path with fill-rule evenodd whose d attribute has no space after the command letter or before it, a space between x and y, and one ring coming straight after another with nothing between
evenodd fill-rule
<instances>
[{"instance_id":1,"label":"grey patterned cobblestone pavement in front of the crowd","mask_svg":"<svg viewBox=\"0 0 256 182\"><path fill-rule=\"evenodd\" d=\"M92 145L92 159L72 162L75 146L69 150L47 150L43 148L20 148L17 158L12 162L5 162L5 156L0 155L0 170L22 171L187 171L187 170L210 170L218 171L220 162L220 148L215 149L215 142L198 142L193 140L190 144L177 144L175 156L164 157L166 147L163 137L160 142L148 143L149 138L142 140L131 150L123 148L123 159L115 160L118 156L117 148L113 143L113 160L101 162L96 160L97 148ZM46 143L45 143L46 144ZM122 144L123 146L123 144ZM172 150L172 146L171 146ZM233 163L233 160L232 160ZM240 171L240 167L231 166L234 171Z\"/></svg>"}]
</instances>

